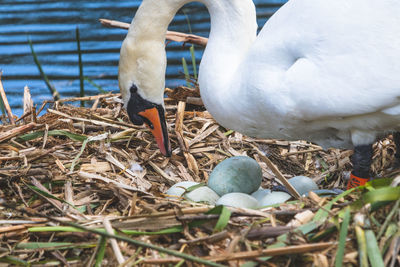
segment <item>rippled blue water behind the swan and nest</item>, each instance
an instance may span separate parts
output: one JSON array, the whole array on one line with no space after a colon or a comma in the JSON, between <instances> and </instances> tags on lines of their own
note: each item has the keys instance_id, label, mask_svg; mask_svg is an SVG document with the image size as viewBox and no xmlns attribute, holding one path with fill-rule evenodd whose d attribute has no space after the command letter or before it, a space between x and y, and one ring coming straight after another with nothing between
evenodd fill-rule
<instances>
[{"instance_id":1,"label":"rippled blue water behind the swan and nest","mask_svg":"<svg viewBox=\"0 0 400 267\"><path fill-rule=\"evenodd\" d=\"M264 25L285 2L254 0L258 24ZM13 113L22 113L25 85L31 89L36 104L51 99L33 61L28 38L33 41L43 69L61 97L78 96L76 27L80 29L84 75L104 90L118 92L119 49L126 31L105 28L98 19L130 22L140 3L137 0L0 0L0 69L3 71L2 81ZM169 29L188 33L187 18L194 34L208 37L209 15L205 7L198 3L188 4L180 10ZM195 50L199 63L203 49L196 46ZM182 57L190 62L189 47L182 47L181 43L170 43L167 47L167 87L185 84ZM85 93L95 95L99 90L85 82Z\"/></svg>"}]
</instances>

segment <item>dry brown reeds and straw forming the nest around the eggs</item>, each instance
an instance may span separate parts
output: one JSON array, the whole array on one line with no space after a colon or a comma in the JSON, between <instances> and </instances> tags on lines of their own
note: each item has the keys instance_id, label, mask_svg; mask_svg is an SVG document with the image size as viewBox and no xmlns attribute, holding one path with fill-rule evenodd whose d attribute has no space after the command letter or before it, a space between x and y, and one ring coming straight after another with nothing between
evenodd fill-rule
<instances>
[{"instance_id":1,"label":"dry brown reeds and straw forming the nest around the eggs","mask_svg":"<svg viewBox=\"0 0 400 267\"><path fill-rule=\"evenodd\" d=\"M321 188L343 188L345 176L351 169L351 151L323 151L305 141L246 137L218 125L199 105L198 90L180 87L167 93L171 158L160 154L145 127L129 122L116 94L91 97L95 101L91 108L66 104L81 98L64 99L53 103L40 117L31 116L36 114L33 112L23 116L16 125L0 126L0 200L5 203L0 207L3 221L0 259L12 257L33 263L52 260L78 266L92 264L93 255L98 252L98 239L93 233L34 232L32 228L59 225L62 221L102 228L111 221L110 226L119 231L157 232L181 227L170 234L137 234L136 239L213 262L236 265L248 260L259 262L263 255L297 255L300 252L313 257L281 256L273 262L279 265L332 261L337 236L328 236L315 244L292 233L295 227L310 221L316 208L326 203L317 196L268 211L231 209L229 224L215 232L213 227L219 217L205 214L211 207L183 199L166 199L164 192L180 181L207 182L216 164L237 155L257 160L263 170L262 186L270 188L277 184L275 173L257 151L265 153L287 178L307 175ZM394 150L390 139L375 145L372 168L375 173L383 175L387 171ZM9 220L7 224L6 219ZM191 226L200 221L205 223ZM324 224L320 231L328 226ZM276 242L276 237L289 233L286 247L272 254L263 252ZM64 241L74 245L36 249L21 246L23 243ZM139 262L144 265L180 261L176 257L163 259L165 255L154 249L138 250L138 246L126 242L112 247L113 250L106 250L104 260L109 265L115 265L114 257L121 260L122 254L132 256L133 261L141 259ZM351 254L354 251L349 248L346 262L357 262Z\"/></svg>"}]
</instances>

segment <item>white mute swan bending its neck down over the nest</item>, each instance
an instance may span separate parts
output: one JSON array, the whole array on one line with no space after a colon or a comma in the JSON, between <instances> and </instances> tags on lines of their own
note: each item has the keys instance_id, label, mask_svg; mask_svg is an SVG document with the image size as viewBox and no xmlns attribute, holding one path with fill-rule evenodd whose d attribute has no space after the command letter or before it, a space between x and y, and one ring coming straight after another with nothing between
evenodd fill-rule
<instances>
[{"instance_id":1,"label":"white mute swan bending its neck down over the nest","mask_svg":"<svg viewBox=\"0 0 400 267\"><path fill-rule=\"evenodd\" d=\"M143 0L121 47L129 117L166 156L165 33L188 2ZM216 121L253 137L354 148L349 187L368 181L372 143L400 130L400 1L290 0L258 36L251 0L198 2L211 16L200 92Z\"/></svg>"}]
</instances>

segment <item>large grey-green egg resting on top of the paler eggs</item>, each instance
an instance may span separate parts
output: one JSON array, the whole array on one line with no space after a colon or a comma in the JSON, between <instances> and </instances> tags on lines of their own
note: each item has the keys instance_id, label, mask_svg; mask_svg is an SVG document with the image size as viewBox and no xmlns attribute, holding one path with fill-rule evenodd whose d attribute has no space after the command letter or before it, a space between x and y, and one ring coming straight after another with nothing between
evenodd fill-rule
<instances>
[{"instance_id":1,"label":"large grey-green egg resting on top of the paler eggs","mask_svg":"<svg viewBox=\"0 0 400 267\"><path fill-rule=\"evenodd\" d=\"M211 172L208 186L218 195L232 192L251 194L262 180L262 171L257 161L245 156L228 158Z\"/></svg>"}]
</instances>

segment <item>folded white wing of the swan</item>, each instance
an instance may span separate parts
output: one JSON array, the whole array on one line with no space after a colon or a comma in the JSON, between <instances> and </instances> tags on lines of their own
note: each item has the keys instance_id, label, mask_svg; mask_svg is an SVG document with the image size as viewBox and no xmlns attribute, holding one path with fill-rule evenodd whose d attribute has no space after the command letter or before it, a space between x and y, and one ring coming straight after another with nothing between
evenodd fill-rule
<instances>
[{"instance_id":1,"label":"folded white wing of the swan","mask_svg":"<svg viewBox=\"0 0 400 267\"><path fill-rule=\"evenodd\" d=\"M242 75L266 111L306 121L400 115L400 1L292 0L270 18Z\"/></svg>"}]
</instances>

